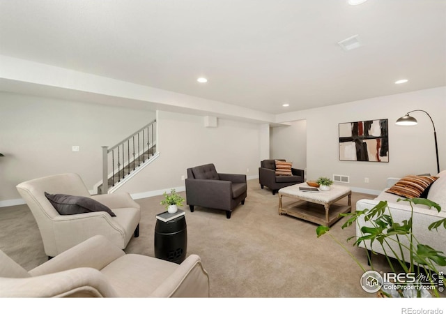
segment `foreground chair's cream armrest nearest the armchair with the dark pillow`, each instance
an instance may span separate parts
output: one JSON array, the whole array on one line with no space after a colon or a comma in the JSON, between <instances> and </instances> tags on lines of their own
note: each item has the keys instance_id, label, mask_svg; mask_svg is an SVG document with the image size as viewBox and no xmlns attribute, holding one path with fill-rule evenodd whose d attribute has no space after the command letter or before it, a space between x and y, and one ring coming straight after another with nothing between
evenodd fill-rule
<instances>
[{"instance_id":1,"label":"foreground chair's cream armrest nearest the armchair with the dark pillow","mask_svg":"<svg viewBox=\"0 0 446 314\"><path fill-rule=\"evenodd\" d=\"M31 276L52 274L79 267L102 269L125 253L102 235L96 235L63 251L51 260L31 269Z\"/></svg>"}]
</instances>

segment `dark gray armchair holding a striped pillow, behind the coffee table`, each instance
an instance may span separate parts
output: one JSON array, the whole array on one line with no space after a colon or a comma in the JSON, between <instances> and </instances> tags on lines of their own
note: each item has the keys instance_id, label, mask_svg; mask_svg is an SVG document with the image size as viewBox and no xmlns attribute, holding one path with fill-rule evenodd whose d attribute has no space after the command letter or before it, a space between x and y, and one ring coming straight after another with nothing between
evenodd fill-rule
<instances>
[{"instance_id":1,"label":"dark gray armchair holding a striped pillow, behind the coffee table","mask_svg":"<svg viewBox=\"0 0 446 314\"><path fill-rule=\"evenodd\" d=\"M304 170L291 168L292 176L277 176L275 160L286 161L285 159L265 159L259 167L260 187L267 186L272 190L272 195L286 186L300 184L304 181Z\"/></svg>"}]
</instances>

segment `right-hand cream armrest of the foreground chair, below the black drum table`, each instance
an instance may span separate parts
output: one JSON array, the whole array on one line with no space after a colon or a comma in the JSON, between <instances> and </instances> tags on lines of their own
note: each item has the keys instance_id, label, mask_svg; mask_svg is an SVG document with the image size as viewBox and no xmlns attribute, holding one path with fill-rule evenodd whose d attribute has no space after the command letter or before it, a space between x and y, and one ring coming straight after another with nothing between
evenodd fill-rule
<instances>
[{"instance_id":1,"label":"right-hand cream armrest of the foreground chair, below the black drum table","mask_svg":"<svg viewBox=\"0 0 446 314\"><path fill-rule=\"evenodd\" d=\"M187 257L150 297L209 297L209 276L200 257Z\"/></svg>"}]
</instances>

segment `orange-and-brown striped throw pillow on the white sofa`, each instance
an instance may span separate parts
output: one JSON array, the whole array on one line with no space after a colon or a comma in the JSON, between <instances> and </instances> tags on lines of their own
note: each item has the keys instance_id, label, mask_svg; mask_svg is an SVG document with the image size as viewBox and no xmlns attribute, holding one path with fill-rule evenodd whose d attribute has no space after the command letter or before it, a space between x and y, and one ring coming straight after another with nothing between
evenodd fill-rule
<instances>
[{"instance_id":1,"label":"orange-and-brown striped throw pillow on the white sofa","mask_svg":"<svg viewBox=\"0 0 446 314\"><path fill-rule=\"evenodd\" d=\"M432 176L406 176L401 178L392 188L386 190L398 196L413 198L420 197L426 188L429 188L438 177Z\"/></svg>"}]
</instances>

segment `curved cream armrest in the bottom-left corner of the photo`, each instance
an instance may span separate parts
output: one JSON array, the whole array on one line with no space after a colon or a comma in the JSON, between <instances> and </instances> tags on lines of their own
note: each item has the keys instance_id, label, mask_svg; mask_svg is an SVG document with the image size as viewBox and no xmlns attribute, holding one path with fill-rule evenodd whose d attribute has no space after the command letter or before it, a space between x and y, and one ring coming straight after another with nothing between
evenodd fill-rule
<instances>
[{"instance_id":1,"label":"curved cream armrest in the bottom-left corner of the photo","mask_svg":"<svg viewBox=\"0 0 446 314\"><path fill-rule=\"evenodd\" d=\"M77 268L29 278L0 278L0 297L118 297L100 271Z\"/></svg>"}]
</instances>

